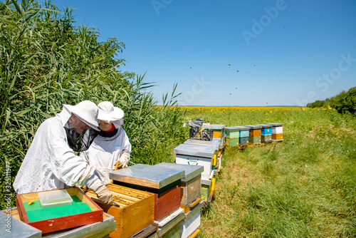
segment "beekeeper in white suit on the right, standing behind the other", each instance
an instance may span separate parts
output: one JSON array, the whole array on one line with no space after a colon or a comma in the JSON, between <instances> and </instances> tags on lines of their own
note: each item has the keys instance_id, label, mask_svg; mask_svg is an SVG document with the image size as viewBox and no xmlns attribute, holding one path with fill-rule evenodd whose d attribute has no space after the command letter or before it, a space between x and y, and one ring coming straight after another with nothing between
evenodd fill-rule
<instances>
[{"instance_id":1,"label":"beekeeper in white suit on the right, standing behind the other","mask_svg":"<svg viewBox=\"0 0 356 238\"><path fill-rule=\"evenodd\" d=\"M109 172L115 169L116 162L118 168L127 167L130 162L131 144L122 128L124 112L108 101L99 103L98 108L99 135L88 150L80 152L80 157L95 167L100 179L108 184Z\"/></svg>"}]
</instances>

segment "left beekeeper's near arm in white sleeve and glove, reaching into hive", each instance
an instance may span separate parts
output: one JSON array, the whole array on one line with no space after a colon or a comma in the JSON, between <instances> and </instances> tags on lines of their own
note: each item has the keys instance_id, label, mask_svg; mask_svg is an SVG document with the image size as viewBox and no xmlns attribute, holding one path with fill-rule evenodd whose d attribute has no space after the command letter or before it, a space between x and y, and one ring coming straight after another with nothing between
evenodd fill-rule
<instances>
[{"instance_id":1,"label":"left beekeeper's near arm in white sleeve and glove, reaching into hive","mask_svg":"<svg viewBox=\"0 0 356 238\"><path fill-rule=\"evenodd\" d=\"M76 156L69 148L66 140L66 131L61 125L53 125L48 130L47 148L51 152L51 167L54 175L68 186L87 185L95 192L103 202L112 200L112 193L95 174L95 168L91 167L85 159Z\"/></svg>"}]
</instances>

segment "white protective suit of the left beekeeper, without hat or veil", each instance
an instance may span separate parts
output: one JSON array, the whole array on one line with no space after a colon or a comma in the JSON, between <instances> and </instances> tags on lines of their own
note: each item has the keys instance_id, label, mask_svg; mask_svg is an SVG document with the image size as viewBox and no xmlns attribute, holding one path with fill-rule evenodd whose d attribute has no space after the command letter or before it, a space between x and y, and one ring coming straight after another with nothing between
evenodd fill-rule
<instances>
[{"instance_id":1,"label":"white protective suit of the left beekeeper, without hat or veil","mask_svg":"<svg viewBox=\"0 0 356 238\"><path fill-rule=\"evenodd\" d=\"M103 184L94 175L95 169L68 146L63 127L70 115L63 106L61 113L39 126L14 181L17 194L62 189L76 183L83 186L88 179L97 187Z\"/></svg>"}]
</instances>

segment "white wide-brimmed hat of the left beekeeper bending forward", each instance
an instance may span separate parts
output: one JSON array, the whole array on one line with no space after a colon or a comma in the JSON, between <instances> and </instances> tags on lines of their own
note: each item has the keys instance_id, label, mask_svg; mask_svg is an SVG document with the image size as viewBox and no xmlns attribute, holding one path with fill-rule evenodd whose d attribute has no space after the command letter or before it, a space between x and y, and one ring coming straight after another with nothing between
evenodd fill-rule
<instances>
[{"instance_id":1,"label":"white wide-brimmed hat of the left beekeeper bending forward","mask_svg":"<svg viewBox=\"0 0 356 238\"><path fill-rule=\"evenodd\" d=\"M77 105L63 105L70 114L74 114L84 123L95 130L100 131L98 125L98 106L90 100L83 100Z\"/></svg>"}]
</instances>

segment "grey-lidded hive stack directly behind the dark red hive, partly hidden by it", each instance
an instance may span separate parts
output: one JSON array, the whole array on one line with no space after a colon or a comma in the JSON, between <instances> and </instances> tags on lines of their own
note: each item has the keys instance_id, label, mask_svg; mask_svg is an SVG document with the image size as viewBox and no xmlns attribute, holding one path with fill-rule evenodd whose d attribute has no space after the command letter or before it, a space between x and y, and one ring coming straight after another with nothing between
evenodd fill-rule
<instances>
[{"instance_id":1,"label":"grey-lidded hive stack directly behind the dark red hive, partly hidden by it","mask_svg":"<svg viewBox=\"0 0 356 238\"><path fill-rule=\"evenodd\" d=\"M199 165L178 165L162 162L157 167L169 167L184 170L185 176L181 180L182 200L181 208L184 209L184 219L180 222L180 237L189 237L194 232L199 232L200 210L204 202L201 201L201 172L204 167Z\"/></svg>"}]
</instances>

